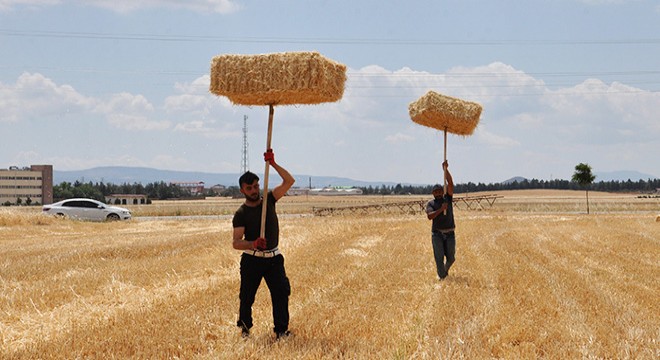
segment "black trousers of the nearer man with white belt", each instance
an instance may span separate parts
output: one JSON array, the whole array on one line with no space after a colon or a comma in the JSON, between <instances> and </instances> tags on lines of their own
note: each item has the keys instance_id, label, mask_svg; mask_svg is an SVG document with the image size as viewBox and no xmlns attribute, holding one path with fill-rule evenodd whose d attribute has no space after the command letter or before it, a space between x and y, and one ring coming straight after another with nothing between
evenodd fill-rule
<instances>
[{"instance_id":1,"label":"black trousers of the nearer man with white belt","mask_svg":"<svg viewBox=\"0 0 660 360\"><path fill-rule=\"evenodd\" d=\"M266 280L273 305L273 331L282 333L289 329L289 295L291 285L284 270L284 256L262 258L243 254L241 256L241 290L237 325L244 329L252 327L252 304L257 295L261 279Z\"/></svg>"}]
</instances>

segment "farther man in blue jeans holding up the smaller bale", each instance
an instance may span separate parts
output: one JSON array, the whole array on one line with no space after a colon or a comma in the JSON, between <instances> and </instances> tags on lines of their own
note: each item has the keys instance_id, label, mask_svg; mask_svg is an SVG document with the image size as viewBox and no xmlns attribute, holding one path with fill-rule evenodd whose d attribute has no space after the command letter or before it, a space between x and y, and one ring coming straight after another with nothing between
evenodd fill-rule
<instances>
[{"instance_id":1,"label":"farther man in blue jeans holding up the smaller bale","mask_svg":"<svg viewBox=\"0 0 660 360\"><path fill-rule=\"evenodd\" d=\"M447 179L447 193L442 185L433 186L433 200L426 204L426 215L433 220L431 226L431 243L433 244L433 257L436 271L440 280L449 275L449 268L454 263L456 255L456 236L454 229L454 181L449 173L449 163L445 160L442 168ZM445 261L446 258L446 261Z\"/></svg>"}]
</instances>

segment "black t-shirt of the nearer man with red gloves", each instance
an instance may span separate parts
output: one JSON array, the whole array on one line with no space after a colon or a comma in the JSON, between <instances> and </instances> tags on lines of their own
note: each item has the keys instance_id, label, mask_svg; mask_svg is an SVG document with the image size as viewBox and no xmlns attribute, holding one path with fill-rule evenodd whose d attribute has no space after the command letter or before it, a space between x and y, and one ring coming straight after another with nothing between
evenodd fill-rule
<instances>
[{"instance_id":1,"label":"black t-shirt of the nearer man with red gloves","mask_svg":"<svg viewBox=\"0 0 660 360\"><path fill-rule=\"evenodd\" d=\"M279 243L280 225L277 220L275 203L277 200L271 191L268 192L268 202L266 203L266 232L267 249L274 249ZM241 205L234 213L232 225L245 228L245 240L254 241L261 234L261 208L258 206Z\"/></svg>"}]
</instances>

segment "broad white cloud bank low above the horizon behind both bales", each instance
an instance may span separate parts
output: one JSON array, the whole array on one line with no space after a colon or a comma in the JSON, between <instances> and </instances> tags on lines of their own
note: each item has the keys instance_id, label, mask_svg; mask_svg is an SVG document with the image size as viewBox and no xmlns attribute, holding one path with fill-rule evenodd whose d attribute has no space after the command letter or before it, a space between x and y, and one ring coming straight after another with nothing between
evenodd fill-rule
<instances>
[{"instance_id":1,"label":"broad white cloud bank low above the horizon behind both bales","mask_svg":"<svg viewBox=\"0 0 660 360\"><path fill-rule=\"evenodd\" d=\"M208 77L193 78L175 84L162 101L152 102L128 92L87 97L43 75L23 74L15 84L0 84L0 121L12 127L25 124L30 131L31 123L26 121L30 117L57 116L62 111L77 112L81 119L103 117L112 129L97 131L90 123L81 133L112 141L124 154L118 157L131 165L237 171L243 115L249 115L254 160L263 152L267 107L231 105L226 98L209 94L207 86ZM513 175L561 177L578 161L604 170L616 170L619 162L644 170L642 165L651 159L648 154L658 150L660 122L655 109L660 107L660 93L598 79L550 89L503 63L453 68L442 74L409 68L390 71L376 65L350 70L341 101L277 107L273 147L294 173L432 181L437 167L429 164L442 158L441 134L412 123L407 108L429 89L484 106L474 135L449 140L449 157L460 181L501 181ZM144 134L135 130L151 131L149 144L143 144ZM73 135L57 136L66 140ZM39 156L44 151L37 145L20 150L26 163L48 161ZM64 153L50 159L58 161L54 163L59 168L119 164L93 151L79 160ZM351 166L346 159L351 159ZM609 164L614 165L607 168Z\"/></svg>"}]
</instances>

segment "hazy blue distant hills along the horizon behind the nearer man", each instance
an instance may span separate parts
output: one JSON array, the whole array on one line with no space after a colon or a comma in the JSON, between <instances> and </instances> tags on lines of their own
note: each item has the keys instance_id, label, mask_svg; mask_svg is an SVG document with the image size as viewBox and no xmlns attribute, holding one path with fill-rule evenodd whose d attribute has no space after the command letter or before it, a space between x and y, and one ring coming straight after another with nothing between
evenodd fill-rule
<instances>
[{"instance_id":1,"label":"hazy blue distant hills along the horizon behind the nearer man","mask_svg":"<svg viewBox=\"0 0 660 360\"><path fill-rule=\"evenodd\" d=\"M257 173L263 178L262 173ZM169 183L172 181L203 181L206 187L213 185L224 186L238 186L239 174L227 173L209 173L209 172L194 172L194 171L174 171L174 170L158 170L145 167L128 167L128 166L104 166L96 167L87 170L73 170L73 171L53 171L53 183L59 184L62 182L104 182L116 185L121 184L149 184L156 182ZM377 181L361 181L342 177L333 176L311 176L311 175L294 175L296 178L296 186L308 187L311 183L312 187L324 186L363 186L363 187L380 187L381 185L395 186L394 182L377 182ZM269 181L279 181L277 174L271 176ZM405 185L405 184L402 184Z\"/></svg>"}]
</instances>

